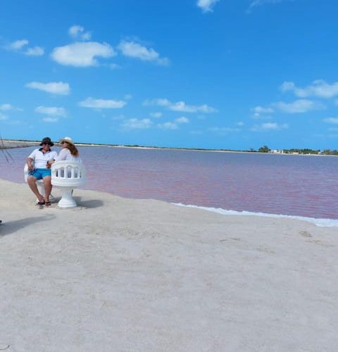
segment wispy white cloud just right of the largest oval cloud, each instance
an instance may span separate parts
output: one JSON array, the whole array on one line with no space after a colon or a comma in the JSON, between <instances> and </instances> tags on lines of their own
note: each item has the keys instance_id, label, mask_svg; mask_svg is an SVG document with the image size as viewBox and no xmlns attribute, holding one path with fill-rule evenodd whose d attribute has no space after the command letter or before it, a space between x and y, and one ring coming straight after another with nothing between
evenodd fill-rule
<instances>
[{"instance_id":1,"label":"wispy white cloud just right of the largest oval cloud","mask_svg":"<svg viewBox=\"0 0 338 352\"><path fill-rule=\"evenodd\" d=\"M142 61L154 61L159 65L169 64L168 58L161 58L157 51L152 48L147 49L146 46L139 43L127 42L123 40L120 44L118 44L118 49L124 56L139 58Z\"/></svg>"}]
</instances>

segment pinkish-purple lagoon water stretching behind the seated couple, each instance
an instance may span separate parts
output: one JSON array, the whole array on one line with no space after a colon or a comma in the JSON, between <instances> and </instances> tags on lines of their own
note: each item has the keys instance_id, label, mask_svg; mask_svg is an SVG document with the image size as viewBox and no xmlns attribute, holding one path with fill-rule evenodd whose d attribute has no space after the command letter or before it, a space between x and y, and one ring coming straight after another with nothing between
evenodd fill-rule
<instances>
[{"instance_id":1,"label":"pinkish-purple lagoon water stretching behind the seated couple","mask_svg":"<svg viewBox=\"0 0 338 352\"><path fill-rule=\"evenodd\" d=\"M23 183L34 148L9 149L0 178ZM55 148L58 150L58 148ZM80 146L86 189L225 210L338 219L338 157Z\"/></svg>"}]
</instances>

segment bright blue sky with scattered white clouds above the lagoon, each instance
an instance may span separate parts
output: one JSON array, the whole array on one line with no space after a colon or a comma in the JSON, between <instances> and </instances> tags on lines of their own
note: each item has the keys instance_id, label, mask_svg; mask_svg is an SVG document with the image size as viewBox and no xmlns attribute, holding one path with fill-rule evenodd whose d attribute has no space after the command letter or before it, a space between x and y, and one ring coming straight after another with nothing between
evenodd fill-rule
<instances>
[{"instance_id":1,"label":"bright blue sky with scattered white clouds above the lagoon","mask_svg":"<svg viewBox=\"0 0 338 352\"><path fill-rule=\"evenodd\" d=\"M333 0L1 0L1 136L337 149L337 23Z\"/></svg>"}]
</instances>

